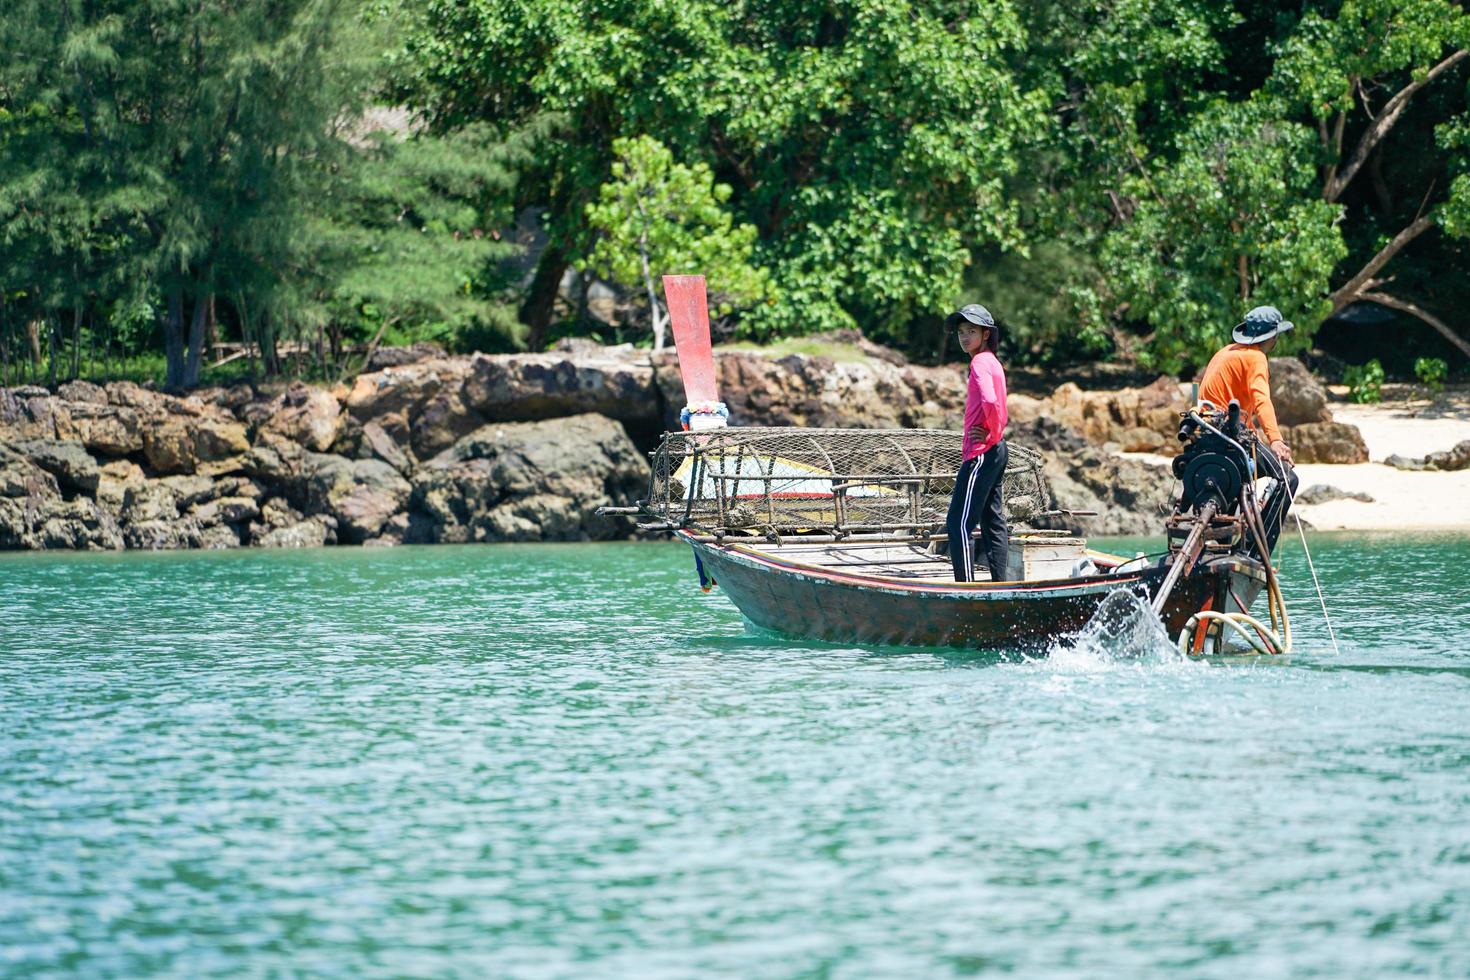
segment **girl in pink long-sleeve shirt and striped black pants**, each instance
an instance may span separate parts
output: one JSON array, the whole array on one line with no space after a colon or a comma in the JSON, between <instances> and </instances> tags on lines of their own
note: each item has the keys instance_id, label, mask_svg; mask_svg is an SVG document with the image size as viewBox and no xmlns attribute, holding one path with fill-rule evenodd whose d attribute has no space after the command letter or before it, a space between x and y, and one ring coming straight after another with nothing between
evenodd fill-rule
<instances>
[{"instance_id":1,"label":"girl in pink long-sleeve shirt and striped black pants","mask_svg":"<svg viewBox=\"0 0 1470 980\"><path fill-rule=\"evenodd\" d=\"M1000 328L991 311L978 303L951 313L944 325L958 334L960 347L970 356L969 386L964 394L964 461L954 478L954 497L950 498L950 516L945 522L954 580L975 580L975 542L970 535L979 526L991 582L1004 582L1010 529L1005 526L1001 478L1005 475L1008 455L1008 416L1005 372L995 357L1000 350Z\"/></svg>"}]
</instances>

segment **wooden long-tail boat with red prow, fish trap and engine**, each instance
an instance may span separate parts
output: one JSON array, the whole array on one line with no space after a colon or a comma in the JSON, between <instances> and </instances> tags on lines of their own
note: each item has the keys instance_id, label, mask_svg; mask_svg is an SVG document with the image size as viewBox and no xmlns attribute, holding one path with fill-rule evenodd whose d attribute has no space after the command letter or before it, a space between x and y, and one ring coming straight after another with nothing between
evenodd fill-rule
<instances>
[{"instance_id":1,"label":"wooden long-tail boat with red prow, fish trap and engine","mask_svg":"<svg viewBox=\"0 0 1470 980\"><path fill-rule=\"evenodd\" d=\"M1051 498L1041 454L1010 444L1007 580L956 582L944 527L958 432L729 426L704 279L666 276L664 292L688 428L653 453L647 495L606 510L686 542L706 591L719 586L756 626L836 642L1044 648L1127 591L1170 635L1194 630L1180 645L1200 651L1219 641L1222 616L1245 614L1272 585L1238 413L1183 419L1182 492L1158 560L1047 529L1067 511Z\"/></svg>"}]
</instances>

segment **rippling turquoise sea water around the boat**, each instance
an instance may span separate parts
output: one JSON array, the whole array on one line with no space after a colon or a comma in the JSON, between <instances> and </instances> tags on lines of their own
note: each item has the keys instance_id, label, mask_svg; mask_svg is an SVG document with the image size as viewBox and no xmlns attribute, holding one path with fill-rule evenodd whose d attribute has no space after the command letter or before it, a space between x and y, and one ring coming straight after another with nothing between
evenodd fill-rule
<instances>
[{"instance_id":1,"label":"rippling turquoise sea water around the boat","mask_svg":"<svg viewBox=\"0 0 1470 980\"><path fill-rule=\"evenodd\" d=\"M1314 554L1341 655L1289 544L1216 663L794 642L678 545L0 555L0 976L1467 976L1470 541Z\"/></svg>"}]
</instances>

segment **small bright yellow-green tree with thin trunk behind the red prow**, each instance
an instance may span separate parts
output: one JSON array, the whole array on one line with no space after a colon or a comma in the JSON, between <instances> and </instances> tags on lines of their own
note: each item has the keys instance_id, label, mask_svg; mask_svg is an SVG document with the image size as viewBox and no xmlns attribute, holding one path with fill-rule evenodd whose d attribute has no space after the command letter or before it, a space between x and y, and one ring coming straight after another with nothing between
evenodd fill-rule
<instances>
[{"instance_id":1,"label":"small bright yellow-green tree with thin trunk behind the red prow","mask_svg":"<svg viewBox=\"0 0 1470 980\"><path fill-rule=\"evenodd\" d=\"M625 287L642 288L653 322L653 348L663 350L669 316L659 303L666 273L703 273L716 311L729 314L770 295L770 276L750 264L754 225L734 225L703 163L684 166L651 137L613 143L613 179L587 206L597 244L588 264Z\"/></svg>"}]
</instances>

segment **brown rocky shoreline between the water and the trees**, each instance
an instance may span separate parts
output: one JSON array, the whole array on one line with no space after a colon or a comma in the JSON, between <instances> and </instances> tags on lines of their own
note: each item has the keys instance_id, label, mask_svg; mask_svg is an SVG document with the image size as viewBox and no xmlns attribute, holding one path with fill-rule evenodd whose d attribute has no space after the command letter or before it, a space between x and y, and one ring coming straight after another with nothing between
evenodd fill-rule
<instances>
[{"instance_id":1,"label":"brown rocky shoreline between the water and the trees","mask_svg":"<svg viewBox=\"0 0 1470 980\"><path fill-rule=\"evenodd\" d=\"M168 395L131 382L0 388L0 550L297 548L626 538L598 517L647 488L647 450L684 404L672 354L570 344L548 354L397 360L332 389ZM963 375L866 341L851 360L719 351L739 425L958 428ZM1279 381L1277 381L1279 379ZM1273 361L1304 461L1363 461L1297 361ZM1013 395L1011 438L1047 451L1083 533L1152 533L1158 467L1188 386ZM1320 398L1319 398L1320 395ZM1361 457L1361 458L1360 458Z\"/></svg>"}]
</instances>

